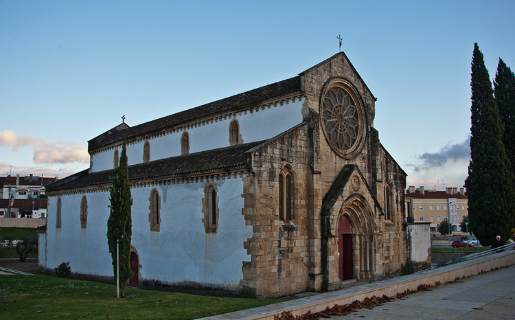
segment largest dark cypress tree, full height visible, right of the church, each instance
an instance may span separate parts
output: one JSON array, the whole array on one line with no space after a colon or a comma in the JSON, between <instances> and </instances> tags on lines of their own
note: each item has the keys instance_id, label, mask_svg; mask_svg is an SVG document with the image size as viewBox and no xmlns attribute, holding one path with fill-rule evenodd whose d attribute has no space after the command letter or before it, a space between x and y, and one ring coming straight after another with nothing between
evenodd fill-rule
<instances>
[{"instance_id":1,"label":"largest dark cypress tree, full height visible, right of the church","mask_svg":"<svg viewBox=\"0 0 515 320\"><path fill-rule=\"evenodd\" d=\"M481 244L497 235L507 239L514 221L513 178L502 137L503 124L493 96L492 82L477 43L472 55L470 107L470 163L465 187L468 218Z\"/></svg>"}]
</instances>

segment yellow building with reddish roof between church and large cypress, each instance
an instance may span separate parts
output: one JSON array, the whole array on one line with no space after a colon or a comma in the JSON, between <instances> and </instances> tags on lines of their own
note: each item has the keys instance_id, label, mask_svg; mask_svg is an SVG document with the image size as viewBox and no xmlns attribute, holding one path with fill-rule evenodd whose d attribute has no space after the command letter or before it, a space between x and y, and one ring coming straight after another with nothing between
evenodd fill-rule
<instances>
[{"instance_id":1,"label":"yellow building with reddish roof between church and large cypress","mask_svg":"<svg viewBox=\"0 0 515 320\"><path fill-rule=\"evenodd\" d=\"M437 231L440 222L449 219L453 231L461 231L459 224L468 216L468 198L464 188L446 187L445 191L415 189L406 190L406 214L408 221L431 222L431 231Z\"/></svg>"}]
</instances>

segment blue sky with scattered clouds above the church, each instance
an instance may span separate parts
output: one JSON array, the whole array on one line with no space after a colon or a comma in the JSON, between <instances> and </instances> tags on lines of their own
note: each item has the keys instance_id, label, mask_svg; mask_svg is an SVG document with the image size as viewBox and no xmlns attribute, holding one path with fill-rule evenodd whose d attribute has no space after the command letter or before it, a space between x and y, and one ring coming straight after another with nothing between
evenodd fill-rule
<instances>
[{"instance_id":1,"label":"blue sky with scattered clouds above the church","mask_svg":"<svg viewBox=\"0 0 515 320\"><path fill-rule=\"evenodd\" d=\"M409 185L467 175L470 60L515 69L515 1L0 0L0 174L63 178L87 141L296 76L342 50ZM12 165L12 168L11 168Z\"/></svg>"}]
</instances>

